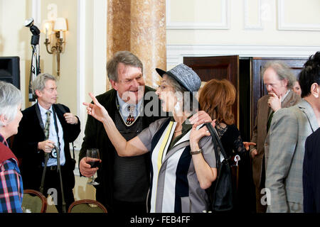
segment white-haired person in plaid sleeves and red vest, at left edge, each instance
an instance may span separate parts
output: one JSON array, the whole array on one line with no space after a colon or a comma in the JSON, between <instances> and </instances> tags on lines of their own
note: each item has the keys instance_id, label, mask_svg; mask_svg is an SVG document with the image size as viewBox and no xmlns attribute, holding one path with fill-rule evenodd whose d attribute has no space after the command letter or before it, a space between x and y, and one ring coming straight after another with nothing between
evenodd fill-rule
<instances>
[{"instance_id":1,"label":"white-haired person in plaid sleeves and red vest, at left edge","mask_svg":"<svg viewBox=\"0 0 320 227\"><path fill-rule=\"evenodd\" d=\"M21 92L0 82L0 213L22 213L23 185L18 159L6 140L18 133L21 121Z\"/></svg>"}]
</instances>

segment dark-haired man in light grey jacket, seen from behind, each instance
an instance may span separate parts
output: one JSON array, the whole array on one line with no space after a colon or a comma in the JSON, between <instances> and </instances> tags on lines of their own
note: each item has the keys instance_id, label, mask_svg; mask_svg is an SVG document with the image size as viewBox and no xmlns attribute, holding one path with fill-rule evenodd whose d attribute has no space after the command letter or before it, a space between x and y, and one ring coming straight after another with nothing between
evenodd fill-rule
<instances>
[{"instance_id":1,"label":"dark-haired man in light grey jacket, seen from behind","mask_svg":"<svg viewBox=\"0 0 320 227\"><path fill-rule=\"evenodd\" d=\"M303 212L304 143L320 126L319 64L320 52L316 52L299 74L302 101L279 109L272 118L265 182L267 212Z\"/></svg>"}]
</instances>

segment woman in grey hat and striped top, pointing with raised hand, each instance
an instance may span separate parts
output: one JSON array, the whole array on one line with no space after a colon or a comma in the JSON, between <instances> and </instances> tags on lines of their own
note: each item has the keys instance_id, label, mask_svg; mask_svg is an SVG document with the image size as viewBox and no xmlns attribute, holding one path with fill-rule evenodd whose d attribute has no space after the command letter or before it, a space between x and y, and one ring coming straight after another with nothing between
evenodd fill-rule
<instances>
[{"instance_id":1,"label":"woman in grey hat and striped top, pointing with raised hand","mask_svg":"<svg viewBox=\"0 0 320 227\"><path fill-rule=\"evenodd\" d=\"M206 126L191 125L196 112L193 92L201 80L190 67L180 64L165 72L156 94L162 109L173 117L161 118L132 140L125 140L95 96L87 114L101 121L119 156L151 155L148 207L156 213L203 212L208 209L206 190L217 177L213 142ZM197 105L198 106L198 105Z\"/></svg>"}]
</instances>

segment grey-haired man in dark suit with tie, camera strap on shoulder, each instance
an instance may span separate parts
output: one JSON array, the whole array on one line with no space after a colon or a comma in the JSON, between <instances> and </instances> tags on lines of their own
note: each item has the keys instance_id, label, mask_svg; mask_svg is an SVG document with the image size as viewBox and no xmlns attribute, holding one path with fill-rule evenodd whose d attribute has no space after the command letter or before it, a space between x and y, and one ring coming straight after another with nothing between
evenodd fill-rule
<instances>
[{"instance_id":1,"label":"grey-haired man in dark suit with tie, camera strap on shoulder","mask_svg":"<svg viewBox=\"0 0 320 227\"><path fill-rule=\"evenodd\" d=\"M69 143L73 142L80 133L80 121L70 113L70 109L57 100L56 79L50 74L39 74L33 81L33 95L37 103L28 107L14 138L13 150L22 160L21 175L23 189L40 191L45 163L46 177L44 178L43 194L51 194L59 212L63 211L60 177L57 171L58 150L60 150L60 170L63 182L65 209L68 210L74 201L73 174L74 162L70 155ZM58 149L58 150L57 150Z\"/></svg>"}]
</instances>

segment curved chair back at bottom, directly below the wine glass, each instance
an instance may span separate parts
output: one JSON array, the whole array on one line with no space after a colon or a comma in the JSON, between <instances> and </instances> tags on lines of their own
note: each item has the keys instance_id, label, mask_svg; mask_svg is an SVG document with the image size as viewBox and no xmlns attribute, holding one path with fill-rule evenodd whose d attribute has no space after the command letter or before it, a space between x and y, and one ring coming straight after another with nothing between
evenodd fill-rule
<instances>
[{"instance_id":1,"label":"curved chair back at bottom, directly below the wine glass","mask_svg":"<svg viewBox=\"0 0 320 227\"><path fill-rule=\"evenodd\" d=\"M98 201L82 199L70 204L68 213L107 213L107 209Z\"/></svg>"}]
</instances>

